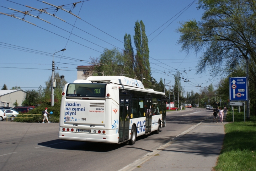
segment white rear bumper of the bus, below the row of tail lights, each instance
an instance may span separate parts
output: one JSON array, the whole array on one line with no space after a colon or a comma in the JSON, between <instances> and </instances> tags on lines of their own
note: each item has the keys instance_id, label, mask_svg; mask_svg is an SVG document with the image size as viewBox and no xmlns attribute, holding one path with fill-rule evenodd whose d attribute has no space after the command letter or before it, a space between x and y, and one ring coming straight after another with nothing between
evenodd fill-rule
<instances>
[{"instance_id":1,"label":"white rear bumper of the bus, below the row of tail lights","mask_svg":"<svg viewBox=\"0 0 256 171\"><path fill-rule=\"evenodd\" d=\"M59 132L59 139L76 140L87 142L107 142L118 143L119 134L90 134L90 133L76 133L76 132Z\"/></svg>"}]
</instances>

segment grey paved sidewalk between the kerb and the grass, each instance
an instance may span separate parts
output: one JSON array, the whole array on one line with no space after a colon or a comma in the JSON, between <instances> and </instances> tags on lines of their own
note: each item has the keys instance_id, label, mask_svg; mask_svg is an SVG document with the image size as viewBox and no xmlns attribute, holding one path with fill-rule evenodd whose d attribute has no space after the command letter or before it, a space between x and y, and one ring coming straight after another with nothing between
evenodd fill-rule
<instances>
[{"instance_id":1,"label":"grey paved sidewalk between the kerb and the grass","mask_svg":"<svg viewBox=\"0 0 256 171\"><path fill-rule=\"evenodd\" d=\"M225 121L225 116L223 120ZM167 143L170 145L166 145L166 148L156 150L160 152L152 154L149 160L138 163L139 167L134 170L211 171L222 149L226 123L213 123L213 117L208 117L190 132Z\"/></svg>"}]
</instances>

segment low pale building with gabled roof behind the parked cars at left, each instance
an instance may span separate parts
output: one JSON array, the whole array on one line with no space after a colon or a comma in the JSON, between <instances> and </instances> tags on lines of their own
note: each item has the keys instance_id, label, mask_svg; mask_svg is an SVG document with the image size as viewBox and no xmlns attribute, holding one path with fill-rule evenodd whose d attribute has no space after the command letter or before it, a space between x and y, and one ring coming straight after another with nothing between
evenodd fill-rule
<instances>
[{"instance_id":1,"label":"low pale building with gabled roof behind the parked cars at left","mask_svg":"<svg viewBox=\"0 0 256 171\"><path fill-rule=\"evenodd\" d=\"M26 92L23 90L0 90L0 106L15 107L13 104L17 100L21 106L26 97Z\"/></svg>"}]
</instances>

